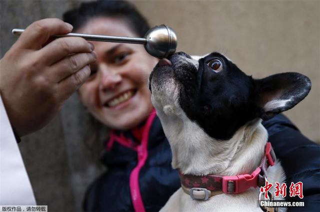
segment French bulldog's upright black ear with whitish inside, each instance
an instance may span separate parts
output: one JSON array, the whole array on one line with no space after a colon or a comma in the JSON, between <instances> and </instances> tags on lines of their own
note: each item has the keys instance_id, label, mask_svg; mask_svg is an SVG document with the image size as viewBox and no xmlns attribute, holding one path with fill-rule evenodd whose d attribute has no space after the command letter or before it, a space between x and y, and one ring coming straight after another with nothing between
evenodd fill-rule
<instances>
[{"instance_id":1,"label":"French bulldog's upright black ear with whitish inside","mask_svg":"<svg viewBox=\"0 0 320 212\"><path fill-rule=\"evenodd\" d=\"M259 116L263 120L291 109L311 89L310 79L294 72L274 74L254 83L254 102L261 109Z\"/></svg>"}]
</instances>

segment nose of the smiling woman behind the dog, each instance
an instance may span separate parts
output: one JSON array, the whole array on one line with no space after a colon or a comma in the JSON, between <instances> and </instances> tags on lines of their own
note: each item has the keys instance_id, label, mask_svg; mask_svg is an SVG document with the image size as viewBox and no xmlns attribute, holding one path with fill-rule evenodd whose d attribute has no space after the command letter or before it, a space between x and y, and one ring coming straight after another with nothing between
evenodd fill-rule
<instances>
[{"instance_id":1,"label":"nose of the smiling woman behind the dog","mask_svg":"<svg viewBox=\"0 0 320 212\"><path fill-rule=\"evenodd\" d=\"M122 77L114 70L107 69L105 65L101 65L101 79L99 87L102 91L115 88L122 81Z\"/></svg>"}]
</instances>

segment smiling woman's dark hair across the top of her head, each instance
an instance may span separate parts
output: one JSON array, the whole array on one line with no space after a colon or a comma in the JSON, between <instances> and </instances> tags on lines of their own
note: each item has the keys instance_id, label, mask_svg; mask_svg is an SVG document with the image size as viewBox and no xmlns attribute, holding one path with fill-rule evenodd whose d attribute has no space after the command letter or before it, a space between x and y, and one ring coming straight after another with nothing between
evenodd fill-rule
<instances>
[{"instance_id":1,"label":"smiling woman's dark hair across the top of her head","mask_svg":"<svg viewBox=\"0 0 320 212\"><path fill-rule=\"evenodd\" d=\"M78 8L64 12L62 18L63 21L73 25L73 30L77 30L91 18L101 16L123 19L128 27L140 37L143 37L150 28L135 6L125 0L83 2Z\"/></svg>"}]
</instances>

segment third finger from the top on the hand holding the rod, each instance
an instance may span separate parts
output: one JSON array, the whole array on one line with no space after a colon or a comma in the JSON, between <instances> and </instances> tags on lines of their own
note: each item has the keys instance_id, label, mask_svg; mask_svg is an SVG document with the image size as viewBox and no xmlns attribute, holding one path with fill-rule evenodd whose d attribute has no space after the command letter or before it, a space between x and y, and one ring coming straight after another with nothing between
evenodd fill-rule
<instances>
[{"instance_id":1,"label":"third finger from the top on the hand holding the rod","mask_svg":"<svg viewBox=\"0 0 320 212\"><path fill-rule=\"evenodd\" d=\"M60 82L84 66L93 63L95 59L96 54L94 52L72 54L54 63L46 74L49 74L49 78L54 82Z\"/></svg>"}]
</instances>

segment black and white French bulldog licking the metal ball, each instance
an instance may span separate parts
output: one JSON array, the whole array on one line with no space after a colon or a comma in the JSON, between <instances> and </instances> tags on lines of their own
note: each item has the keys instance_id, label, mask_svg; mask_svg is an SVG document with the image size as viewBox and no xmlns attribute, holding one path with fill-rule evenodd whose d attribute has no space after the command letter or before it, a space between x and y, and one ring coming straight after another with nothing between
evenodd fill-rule
<instances>
[{"instance_id":1,"label":"black and white French bulldog licking the metal ball","mask_svg":"<svg viewBox=\"0 0 320 212\"><path fill-rule=\"evenodd\" d=\"M268 138L261 120L300 102L310 91L310 80L294 72L253 79L218 52L203 57L177 52L158 62L148 83L171 147L172 167L179 170L181 179L189 178L181 181L181 188L161 211L261 211L256 183L239 192L233 191L236 186L229 187L229 181L225 186L216 177L213 187L223 191L186 187L191 178L205 183L212 175L246 174L258 181L256 173L251 173L261 167ZM280 163L274 162L263 175L273 185L285 180Z\"/></svg>"}]
</instances>

